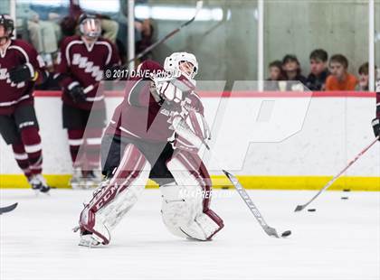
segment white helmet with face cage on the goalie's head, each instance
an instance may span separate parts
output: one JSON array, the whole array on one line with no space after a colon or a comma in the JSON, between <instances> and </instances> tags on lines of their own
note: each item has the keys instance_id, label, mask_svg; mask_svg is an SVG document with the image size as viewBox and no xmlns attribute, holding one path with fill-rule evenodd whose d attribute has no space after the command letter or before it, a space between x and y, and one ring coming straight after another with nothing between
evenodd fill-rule
<instances>
[{"instance_id":1,"label":"white helmet with face cage on the goalie's head","mask_svg":"<svg viewBox=\"0 0 380 280\"><path fill-rule=\"evenodd\" d=\"M194 79L196 73L198 72L198 61L196 61L195 55L193 53L173 52L170 56L166 57L166 60L164 62L164 69L173 73L179 71L185 75L185 77Z\"/></svg>"}]
</instances>

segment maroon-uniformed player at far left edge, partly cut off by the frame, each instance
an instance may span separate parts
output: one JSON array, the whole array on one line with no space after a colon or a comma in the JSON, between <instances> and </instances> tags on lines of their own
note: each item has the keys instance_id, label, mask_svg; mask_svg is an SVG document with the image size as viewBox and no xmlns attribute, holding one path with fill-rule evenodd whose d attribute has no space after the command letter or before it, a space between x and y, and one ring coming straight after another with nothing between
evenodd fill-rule
<instances>
[{"instance_id":1,"label":"maroon-uniformed player at far left edge, partly cut off by the frame","mask_svg":"<svg viewBox=\"0 0 380 280\"><path fill-rule=\"evenodd\" d=\"M49 191L43 179L43 148L33 107L35 83L46 79L44 63L33 46L12 40L14 21L0 15L0 133L12 145L14 159L34 190Z\"/></svg>"}]
</instances>

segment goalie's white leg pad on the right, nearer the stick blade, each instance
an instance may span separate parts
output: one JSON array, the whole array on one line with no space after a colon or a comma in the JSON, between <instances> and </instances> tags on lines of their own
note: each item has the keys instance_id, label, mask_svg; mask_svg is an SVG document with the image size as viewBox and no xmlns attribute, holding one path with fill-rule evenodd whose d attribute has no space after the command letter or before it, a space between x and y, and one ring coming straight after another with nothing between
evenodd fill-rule
<instances>
[{"instance_id":1,"label":"goalie's white leg pad on the right, nearer the stick blade","mask_svg":"<svg viewBox=\"0 0 380 280\"><path fill-rule=\"evenodd\" d=\"M176 157L167 163L167 167L176 183L161 187L162 218L166 228L178 237L198 240L212 238L223 226L207 214L211 212L213 216L212 210L204 213L203 186Z\"/></svg>"}]
</instances>

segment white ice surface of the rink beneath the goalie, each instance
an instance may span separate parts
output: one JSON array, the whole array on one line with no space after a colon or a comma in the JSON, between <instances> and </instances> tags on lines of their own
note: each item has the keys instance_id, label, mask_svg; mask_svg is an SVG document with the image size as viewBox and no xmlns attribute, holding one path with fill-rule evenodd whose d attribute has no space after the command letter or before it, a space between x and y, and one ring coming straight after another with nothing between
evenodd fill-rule
<instances>
[{"instance_id":1,"label":"white ice surface of the rink beneath the goalie","mask_svg":"<svg viewBox=\"0 0 380 280\"><path fill-rule=\"evenodd\" d=\"M0 279L378 280L380 193L328 191L294 213L315 191L249 191L269 225L290 238L270 238L238 194L215 198L225 228L211 242L166 230L158 190L146 190L112 235L109 247L79 247L76 225L90 191L1 190ZM347 201L341 196L349 196Z\"/></svg>"}]
</instances>

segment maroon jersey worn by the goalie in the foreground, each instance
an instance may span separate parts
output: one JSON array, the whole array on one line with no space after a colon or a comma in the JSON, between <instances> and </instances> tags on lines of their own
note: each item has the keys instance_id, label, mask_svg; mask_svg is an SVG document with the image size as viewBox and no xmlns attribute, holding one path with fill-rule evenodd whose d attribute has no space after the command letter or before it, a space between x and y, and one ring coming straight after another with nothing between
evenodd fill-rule
<instances>
[{"instance_id":1,"label":"maroon jersey worn by the goalie in the foreground","mask_svg":"<svg viewBox=\"0 0 380 280\"><path fill-rule=\"evenodd\" d=\"M138 67L144 77L147 71L164 69L155 61L144 61ZM114 115L106 130L110 135L121 135L129 138L144 139L151 142L167 142L174 130L170 127L171 113L180 113L183 107L191 107L204 114L204 107L195 92L189 92L181 106L170 107L159 105L150 94L150 79L132 78L127 82L124 100L116 107Z\"/></svg>"}]
</instances>

